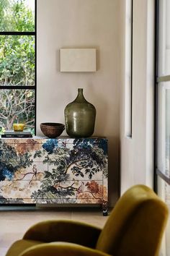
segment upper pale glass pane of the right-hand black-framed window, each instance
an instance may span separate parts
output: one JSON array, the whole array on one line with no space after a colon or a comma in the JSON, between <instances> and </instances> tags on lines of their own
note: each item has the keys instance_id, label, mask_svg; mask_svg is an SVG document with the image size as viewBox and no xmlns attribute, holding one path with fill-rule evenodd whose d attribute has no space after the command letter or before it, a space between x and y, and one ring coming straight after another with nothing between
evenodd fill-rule
<instances>
[{"instance_id":1,"label":"upper pale glass pane of the right-hand black-framed window","mask_svg":"<svg viewBox=\"0 0 170 256\"><path fill-rule=\"evenodd\" d=\"M170 0L159 0L158 76L170 74Z\"/></svg>"}]
</instances>

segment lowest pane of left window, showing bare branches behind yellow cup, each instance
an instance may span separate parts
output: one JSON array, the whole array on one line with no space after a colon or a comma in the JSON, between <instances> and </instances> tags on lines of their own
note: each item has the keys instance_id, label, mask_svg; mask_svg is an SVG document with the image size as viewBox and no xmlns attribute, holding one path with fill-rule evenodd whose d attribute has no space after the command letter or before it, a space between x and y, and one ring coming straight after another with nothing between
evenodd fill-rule
<instances>
[{"instance_id":1,"label":"lowest pane of left window, showing bare branches behind yellow cup","mask_svg":"<svg viewBox=\"0 0 170 256\"><path fill-rule=\"evenodd\" d=\"M2 131L12 130L14 122L26 124L28 129L35 127L35 91L0 91L0 127Z\"/></svg>"}]
</instances>

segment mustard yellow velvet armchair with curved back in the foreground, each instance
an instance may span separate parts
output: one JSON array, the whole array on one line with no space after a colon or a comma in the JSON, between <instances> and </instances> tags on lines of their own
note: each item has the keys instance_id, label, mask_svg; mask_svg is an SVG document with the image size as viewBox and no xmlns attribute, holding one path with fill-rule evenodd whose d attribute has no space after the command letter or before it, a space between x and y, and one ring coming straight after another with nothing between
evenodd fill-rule
<instances>
[{"instance_id":1,"label":"mustard yellow velvet armchair with curved back in the foreground","mask_svg":"<svg viewBox=\"0 0 170 256\"><path fill-rule=\"evenodd\" d=\"M76 221L42 221L6 256L156 256L169 212L152 189L136 185L117 201L103 229Z\"/></svg>"}]
</instances>

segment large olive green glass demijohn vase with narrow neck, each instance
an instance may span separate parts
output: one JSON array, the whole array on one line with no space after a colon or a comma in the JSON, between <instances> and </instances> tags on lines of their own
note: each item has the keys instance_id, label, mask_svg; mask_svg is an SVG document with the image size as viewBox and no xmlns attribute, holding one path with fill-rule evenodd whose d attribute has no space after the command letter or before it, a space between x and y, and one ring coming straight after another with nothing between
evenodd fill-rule
<instances>
[{"instance_id":1,"label":"large olive green glass demijohn vase with narrow neck","mask_svg":"<svg viewBox=\"0 0 170 256\"><path fill-rule=\"evenodd\" d=\"M94 133L96 108L86 101L83 89L78 89L76 99L65 110L66 132L71 137L90 137Z\"/></svg>"}]
</instances>

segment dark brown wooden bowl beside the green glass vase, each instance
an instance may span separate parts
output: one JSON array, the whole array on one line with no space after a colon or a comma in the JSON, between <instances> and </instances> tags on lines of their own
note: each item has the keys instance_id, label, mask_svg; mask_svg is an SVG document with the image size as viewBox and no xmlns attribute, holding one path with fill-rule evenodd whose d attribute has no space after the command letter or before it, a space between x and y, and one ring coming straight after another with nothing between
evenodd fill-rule
<instances>
[{"instance_id":1,"label":"dark brown wooden bowl beside the green glass vase","mask_svg":"<svg viewBox=\"0 0 170 256\"><path fill-rule=\"evenodd\" d=\"M46 137L55 138L61 135L65 125L60 123L42 123L40 124L40 129Z\"/></svg>"}]
</instances>

